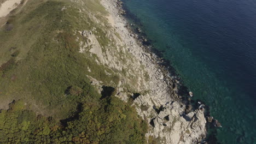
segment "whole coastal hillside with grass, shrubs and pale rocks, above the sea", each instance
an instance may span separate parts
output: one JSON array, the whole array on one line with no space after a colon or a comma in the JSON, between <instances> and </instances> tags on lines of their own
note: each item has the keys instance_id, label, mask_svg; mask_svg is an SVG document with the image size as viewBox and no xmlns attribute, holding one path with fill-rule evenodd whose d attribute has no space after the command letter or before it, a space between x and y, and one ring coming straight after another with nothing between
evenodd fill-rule
<instances>
[{"instance_id":1,"label":"whole coastal hillside with grass, shrubs and pale rocks, above the sea","mask_svg":"<svg viewBox=\"0 0 256 144\"><path fill-rule=\"evenodd\" d=\"M203 113L179 116L178 84L131 37L118 4L28 0L1 17L0 143L204 137Z\"/></svg>"}]
</instances>

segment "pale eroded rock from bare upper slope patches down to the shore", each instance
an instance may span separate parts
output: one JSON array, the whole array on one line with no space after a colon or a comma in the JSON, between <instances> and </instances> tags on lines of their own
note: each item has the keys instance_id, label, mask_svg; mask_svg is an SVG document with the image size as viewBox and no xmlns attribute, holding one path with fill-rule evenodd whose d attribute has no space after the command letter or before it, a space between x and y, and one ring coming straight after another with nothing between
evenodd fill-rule
<instances>
[{"instance_id":1,"label":"pale eroded rock from bare upper slope patches down to the shore","mask_svg":"<svg viewBox=\"0 0 256 144\"><path fill-rule=\"evenodd\" d=\"M160 69L154 53L144 51L136 35L129 32L127 22L120 14L120 1L101 0L101 3L109 12L106 19L111 17L109 26L112 28L104 29L104 32L112 43L102 46L95 29L80 31L83 39L78 39L79 52L95 54L98 64L119 74L121 79L115 83L115 96L124 101L129 100L129 95L136 96L132 97L133 105L149 124L147 139L154 137L159 143L200 143L206 135L203 111L192 111L191 106L178 101L179 81ZM96 17L91 19L101 23ZM100 91L102 82L88 77ZM140 94L131 93L131 89Z\"/></svg>"}]
</instances>

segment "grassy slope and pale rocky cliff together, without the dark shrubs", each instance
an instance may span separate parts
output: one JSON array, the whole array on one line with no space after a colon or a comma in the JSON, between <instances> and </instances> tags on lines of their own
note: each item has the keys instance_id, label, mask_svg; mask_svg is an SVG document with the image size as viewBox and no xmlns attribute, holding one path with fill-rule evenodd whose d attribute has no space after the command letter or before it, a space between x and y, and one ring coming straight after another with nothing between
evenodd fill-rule
<instances>
[{"instance_id":1,"label":"grassy slope and pale rocky cliff together, without the dark shrubs","mask_svg":"<svg viewBox=\"0 0 256 144\"><path fill-rule=\"evenodd\" d=\"M129 29L120 1L26 2L0 19L7 20L0 41L0 109L22 99L26 109L67 125L78 104L92 103L87 95L101 94L97 101L113 95L147 123L147 143L201 143L206 137L203 109L181 102L178 80L142 44L146 39ZM126 114L120 117L132 115Z\"/></svg>"}]
</instances>

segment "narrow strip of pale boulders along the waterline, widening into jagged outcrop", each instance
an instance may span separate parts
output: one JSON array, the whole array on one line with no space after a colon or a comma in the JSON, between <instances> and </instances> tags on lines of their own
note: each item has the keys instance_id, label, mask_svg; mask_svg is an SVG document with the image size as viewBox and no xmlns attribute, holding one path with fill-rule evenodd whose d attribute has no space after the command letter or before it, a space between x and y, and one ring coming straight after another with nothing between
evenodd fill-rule
<instances>
[{"instance_id":1,"label":"narrow strip of pale boulders along the waterline, widening into jagged outcrop","mask_svg":"<svg viewBox=\"0 0 256 144\"><path fill-rule=\"evenodd\" d=\"M145 66L149 82L145 84L150 91L133 97L138 115L149 124L146 134L148 142L153 143L204 143L206 137L205 109L193 110L191 105L182 103L179 92L179 78L171 76L162 65L163 60L150 51L150 46L143 45L147 39L131 30L123 14L122 2L102 0L109 13L107 17L114 30L119 33L122 44L139 64ZM141 29L137 28L137 32ZM139 66L139 65L138 65ZM141 76L143 79L143 76ZM122 95L117 97L127 100Z\"/></svg>"}]
</instances>

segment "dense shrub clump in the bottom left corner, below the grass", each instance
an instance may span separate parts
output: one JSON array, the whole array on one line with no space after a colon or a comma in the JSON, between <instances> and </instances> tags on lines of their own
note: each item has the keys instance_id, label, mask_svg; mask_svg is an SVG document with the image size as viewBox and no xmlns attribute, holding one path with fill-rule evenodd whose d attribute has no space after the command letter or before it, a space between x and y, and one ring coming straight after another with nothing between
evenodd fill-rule
<instances>
[{"instance_id":1,"label":"dense shrub clump in the bottom left corner, below the grass","mask_svg":"<svg viewBox=\"0 0 256 144\"><path fill-rule=\"evenodd\" d=\"M0 143L49 143L54 124L50 118L25 110L22 101L16 101L0 113Z\"/></svg>"}]
</instances>

